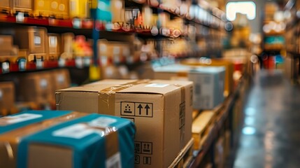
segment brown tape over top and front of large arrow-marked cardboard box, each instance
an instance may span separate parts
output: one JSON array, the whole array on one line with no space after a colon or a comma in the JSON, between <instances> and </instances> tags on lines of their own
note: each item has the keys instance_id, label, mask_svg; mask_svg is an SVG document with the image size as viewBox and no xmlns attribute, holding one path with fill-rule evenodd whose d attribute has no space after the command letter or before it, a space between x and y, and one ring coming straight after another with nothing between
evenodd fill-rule
<instances>
[{"instance_id":1,"label":"brown tape over top and front of large arrow-marked cardboard box","mask_svg":"<svg viewBox=\"0 0 300 168\"><path fill-rule=\"evenodd\" d=\"M107 87L103 90L99 91L98 94L98 112L105 111L106 115L115 116L115 92L119 92L121 90L127 89L134 85L142 84L142 83L149 83L150 80L137 80L131 83L124 83L122 85L114 85L111 87ZM110 104L112 104L110 106Z\"/></svg>"}]
</instances>

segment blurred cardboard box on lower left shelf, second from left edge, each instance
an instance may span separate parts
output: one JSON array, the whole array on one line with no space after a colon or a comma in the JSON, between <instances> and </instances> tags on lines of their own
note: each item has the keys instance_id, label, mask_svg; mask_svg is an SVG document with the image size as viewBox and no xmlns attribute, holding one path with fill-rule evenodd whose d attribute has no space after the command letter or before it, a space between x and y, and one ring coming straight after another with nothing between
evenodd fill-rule
<instances>
[{"instance_id":1,"label":"blurred cardboard box on lower left shelf, second from left edge","mask_svg":"<svg viewBox=\"0 0 300 168\"><path fill-rule=\"evenodd\" d=\"M25 73L20 77L20 84L17 87L17 101L38 104L54 101L52 81L52 74L47 71Z\"/></svg>"}]
</instances>

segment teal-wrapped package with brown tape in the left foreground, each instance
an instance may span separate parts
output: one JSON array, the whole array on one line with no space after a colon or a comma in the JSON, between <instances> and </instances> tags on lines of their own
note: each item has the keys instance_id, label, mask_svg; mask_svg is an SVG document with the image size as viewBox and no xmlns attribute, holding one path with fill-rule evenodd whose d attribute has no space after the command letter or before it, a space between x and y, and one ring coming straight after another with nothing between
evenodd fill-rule
<instances>
[{"instance_id":1,"label":"teal-wrapped package with brown tape in the left foreground","mask_svg":"<svg viewBox=\"0 0 300 168\"><path fill-rule=\"evenodd\" d=\"M134 124L74 111L0 118L0 167L134 167Z\"/></svg>"}]
</instances>

